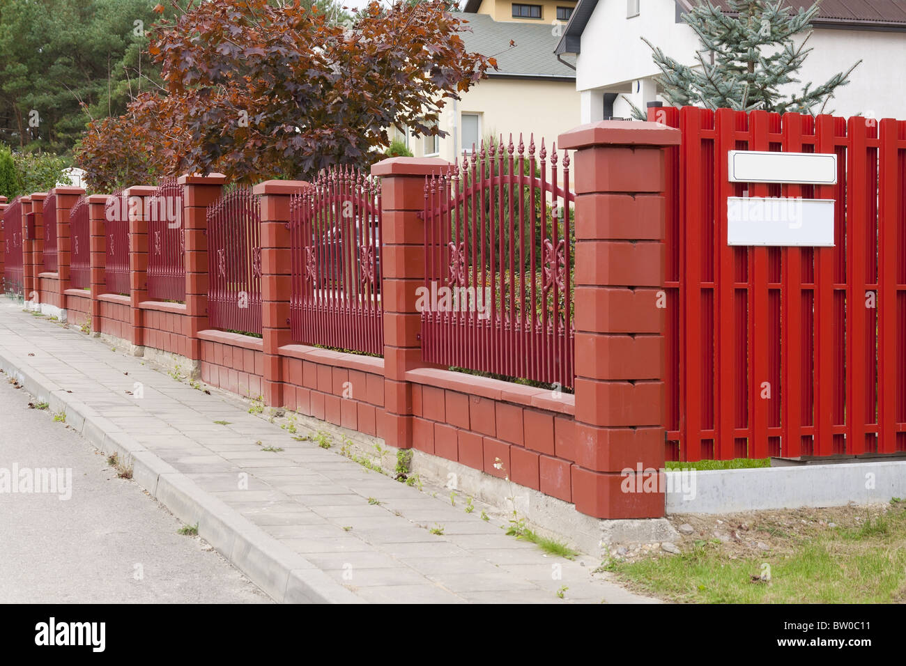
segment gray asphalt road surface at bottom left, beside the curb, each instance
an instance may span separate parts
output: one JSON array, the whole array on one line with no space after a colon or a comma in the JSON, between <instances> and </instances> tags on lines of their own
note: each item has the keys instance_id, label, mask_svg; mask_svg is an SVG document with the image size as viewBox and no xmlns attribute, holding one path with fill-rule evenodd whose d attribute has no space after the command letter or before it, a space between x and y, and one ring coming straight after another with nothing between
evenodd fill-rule
<instances>
[{"instance_id":1,"label":"gray asphalt road surface at bottom left, beside the curb","mask_svg":"<svg viewBox=\"0 0 906 666\"><path fill-rule=\"evenodd\" d=\"M0 374L0 603L270 603L30 401Z\"/></svg>"}]
</instances>

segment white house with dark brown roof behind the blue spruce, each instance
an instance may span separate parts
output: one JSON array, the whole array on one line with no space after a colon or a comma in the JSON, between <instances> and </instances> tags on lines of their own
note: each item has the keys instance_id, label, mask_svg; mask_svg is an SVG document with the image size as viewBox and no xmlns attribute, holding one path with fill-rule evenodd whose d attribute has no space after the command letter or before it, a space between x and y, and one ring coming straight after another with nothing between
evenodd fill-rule
<instances>
[{"instance_id":1,"label":"white house with dark brown roof behind the blue spruce","mask_svg":"<svg viewBox=\"0 0 906 666\"><path fill-rule=\"evenodd\" d=\"M651 60L652 44L680 63L692 65L700 43L680 15L696 0L579 0L554 53L575 55L576 90L582 97L582 121L629 117L630 99L644 109L663 101ZM720 4L719 2L717 3ZM810 0L787 2L795 9ZM881 0L824 0L813 22L798 78L823 83L863 61L851 82L835 92L826 112L874 118L902 118L903 95L892 68L906 63L906 5ZM801 39L801 38L800 38Z\"/></svg>"}]
</instances>

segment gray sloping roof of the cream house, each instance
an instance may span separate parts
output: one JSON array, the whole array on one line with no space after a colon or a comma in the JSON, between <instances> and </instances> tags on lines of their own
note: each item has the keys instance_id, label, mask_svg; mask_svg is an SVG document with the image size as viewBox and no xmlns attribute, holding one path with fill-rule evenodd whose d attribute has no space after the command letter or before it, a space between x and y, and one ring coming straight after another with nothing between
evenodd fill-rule
<instances>
[{"instance_id":1,"label":"gray sloping roof of the cream house","mask_svg":"<svg viewBox=\"0 0 906 666\"><path fill-rule=\"evenodd\" d=\"M471 29L471 32L459 34L466 49L496 58L498 69L489 69L488 77L575 80L573 69L559 62L554 55L560 37L554 34L552 24L494 21L488 14L452 14L467 21L466 27ZM516 46L510 48L510 40L516 42Z\"/></svg>"}]
</instances>

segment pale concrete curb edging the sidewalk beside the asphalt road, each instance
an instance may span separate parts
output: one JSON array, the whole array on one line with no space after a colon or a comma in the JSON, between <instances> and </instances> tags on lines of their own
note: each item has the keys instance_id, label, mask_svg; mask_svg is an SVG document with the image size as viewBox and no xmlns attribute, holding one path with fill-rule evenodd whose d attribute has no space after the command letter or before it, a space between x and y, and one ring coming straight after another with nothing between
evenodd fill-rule
<instances>
[{"instance_id":1,"label":"pale concrete curb edging the sidewalk beside the asphalt road","mask_svg":"<svg viewBox=\"0 0 906 666\"><path fill-rule=\"evenodd\" d=\"M105 456L117 454L132 478L201 536L266 594L280 603L365 603L302 555L267 534L248 518L208 495L191 479L9 352L0 352L0 369L48 409L65 412L66 424Z\"/></svg>"}]
</instances>

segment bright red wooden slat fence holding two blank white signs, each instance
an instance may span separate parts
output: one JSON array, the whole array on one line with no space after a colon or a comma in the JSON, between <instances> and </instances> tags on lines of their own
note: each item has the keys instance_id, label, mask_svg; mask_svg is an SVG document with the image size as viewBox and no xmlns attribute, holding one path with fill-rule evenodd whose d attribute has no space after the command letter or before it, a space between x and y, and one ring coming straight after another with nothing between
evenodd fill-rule
<instances>
[{"instance_id":1,"label":"bright red wooden slat fence holding two blank white signs","mask_svg":"<svg viewBox=\"0 0 906 666\"><path fill-rule=\"evenodd\" d=\"M649 110L667 154L668 459L906 450L906 121ZM728 181L728 150L836 153L836 185ZM727 198L834 198L834 247L727 244Z\"/></svg>"}]
</instances>

